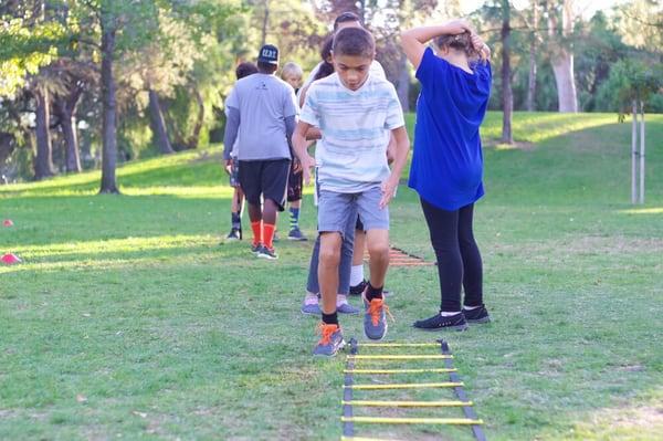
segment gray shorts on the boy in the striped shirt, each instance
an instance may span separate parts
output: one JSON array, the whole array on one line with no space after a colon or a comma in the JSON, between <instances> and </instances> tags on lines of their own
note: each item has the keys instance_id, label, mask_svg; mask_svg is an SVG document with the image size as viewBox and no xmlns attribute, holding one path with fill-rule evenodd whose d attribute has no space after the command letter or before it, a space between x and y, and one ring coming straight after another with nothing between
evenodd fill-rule
<instances>
[{"instance_id":1,"label":"gray shorts on the boy in the striped shirt","mask_svg":"<svg viewBox=\"0 0 663 441\"><path fill-rule=\"evenodd\" d=\"M382 190L373 187L359 193L339 193L320 190L318 199L318 231L337 231L340 234L357 214L361 218L365 231L389 230L389 207L380 209Z\"/></svg>"}]
</instances>

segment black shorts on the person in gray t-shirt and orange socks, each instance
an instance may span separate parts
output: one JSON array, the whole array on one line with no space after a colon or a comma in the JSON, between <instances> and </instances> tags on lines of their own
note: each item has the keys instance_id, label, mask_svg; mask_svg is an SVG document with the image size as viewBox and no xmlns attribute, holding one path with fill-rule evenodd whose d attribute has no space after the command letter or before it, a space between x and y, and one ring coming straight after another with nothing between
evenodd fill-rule
<instances>
[{"instance_id":1,"label":"black shorts on the person in gray t-shirt and orange socks","mask_svg":"<svg viewBox=\"0 0 663 441\"><path fill-rule=\"evenodd\" d=\"M290 159L241 160L240 185L249 203L260 206L262 196L283 211L290 169Z\"/></svg>"}]
</instances>

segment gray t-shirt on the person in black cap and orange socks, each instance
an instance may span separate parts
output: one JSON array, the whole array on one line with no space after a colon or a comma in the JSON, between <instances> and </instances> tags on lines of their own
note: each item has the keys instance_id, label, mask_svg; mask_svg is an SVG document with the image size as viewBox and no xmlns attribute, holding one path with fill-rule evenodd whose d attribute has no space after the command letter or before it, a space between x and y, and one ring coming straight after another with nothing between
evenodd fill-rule
<instances>
[{"instance_id":1,"label":"gray t-shirt on the person in black cap and orange socks","mask_svg":"<svg viewBox=\"0 0 663 441\"><path fill-rule=\"evenodd\" d=\"M225 99L240 113L240 160L290 159L285 118L296 116L293 87L274 75L256 73L235 83Z\"/></svg>"}]
</instances>

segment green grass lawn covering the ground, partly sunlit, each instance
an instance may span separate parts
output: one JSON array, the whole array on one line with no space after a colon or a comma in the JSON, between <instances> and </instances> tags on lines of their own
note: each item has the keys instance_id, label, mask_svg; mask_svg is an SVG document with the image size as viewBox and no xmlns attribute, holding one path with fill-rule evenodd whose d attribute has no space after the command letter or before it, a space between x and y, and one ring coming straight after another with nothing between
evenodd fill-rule
<instances>
[{"instance_id":1,"label":"green grass lawn covering the ground, partly sunlit","mask_svg":"<svg viewBox=\"0 0 663 441\"><path fill-rule=\"evenodd\" d=\"M413 330L439 306L436 274L394 267L388 338L446 338L491 440L663 439L663 115L648 116L645 206L629 203L631 132L615 115L517 113L519 148L494 140L499 118L483 130L475 210L493 323ZM0 439L339 439L345 357L313 359L316 321L299 313L311 242L282 241L275 262L219 244L218 147L125 165L120 197L96 196L98 180L0 187L15 222L0 253L24 261L0 266ZM391 213L392 243L432 260L415 195L403 186ZM359 317L341 321L362 338Z\"/></svg>"}]
</instances>

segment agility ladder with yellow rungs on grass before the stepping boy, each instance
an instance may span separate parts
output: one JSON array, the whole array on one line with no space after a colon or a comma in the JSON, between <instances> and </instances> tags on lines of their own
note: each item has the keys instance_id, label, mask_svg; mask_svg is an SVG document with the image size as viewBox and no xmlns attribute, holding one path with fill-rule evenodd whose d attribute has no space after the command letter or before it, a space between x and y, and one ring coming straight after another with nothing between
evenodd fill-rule
<instances>
[{"instance_id":1,"label":"agility ladder with yellow rungs on grass before the stepping boy","mask_svg":"<svg viewBox=\"0 0 663 441\"><path fill-rule=\"evenodd\" d=\"M359 354L361 348L439 348L439 354L423 355L364 355ZM418 360L441 360L444 367L433 368L357 368L357 364L368 363L386 363L390 361L418 361ZM350 354L347 356L343 396L343 437L341 440L354 441L388 441L378 440L376 438L361 438L355 435L355 423L372 423L372 424L453 424L469 426L472 428L474 438L478 441L485 441L486 437L483 432L483 421L478 419L474 411L474 403L467 399L463 390L464 384L460 380L456 369L453 367L453 355L449 349L449 344L445 340L436 343L362 343L359 344L355 338L350 339ZM444 381L435 382L394 382L394 384L356 384L355 376L364 375L398 375L398 374L442 374ZM385 389L453 389L456 400L356 400L352 398L355 390L385 390ZM356 417L354 408L461 408L465 418L392 418L392 417Z\"/></svg>"}]
</instances>

